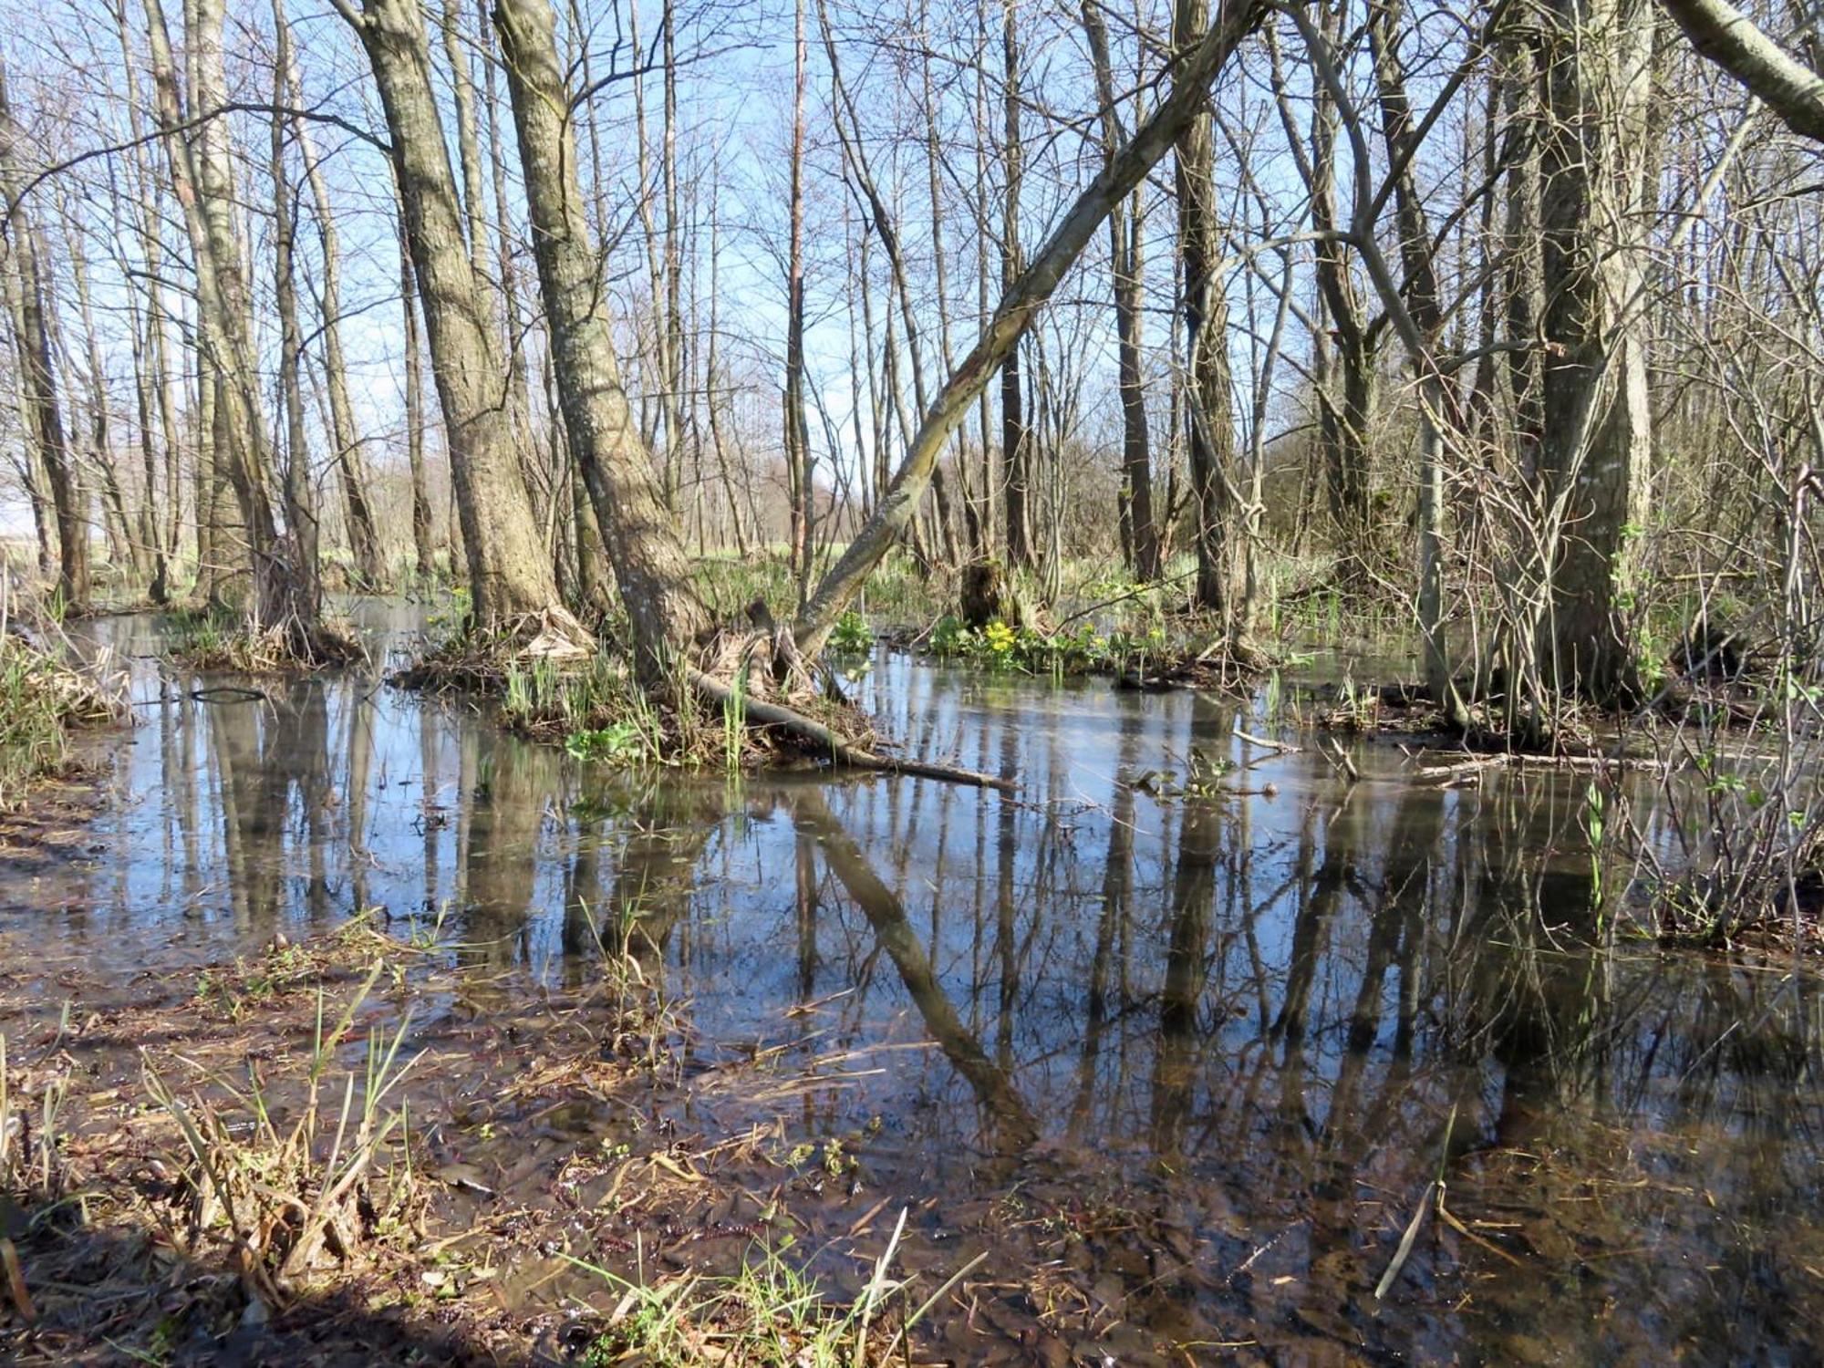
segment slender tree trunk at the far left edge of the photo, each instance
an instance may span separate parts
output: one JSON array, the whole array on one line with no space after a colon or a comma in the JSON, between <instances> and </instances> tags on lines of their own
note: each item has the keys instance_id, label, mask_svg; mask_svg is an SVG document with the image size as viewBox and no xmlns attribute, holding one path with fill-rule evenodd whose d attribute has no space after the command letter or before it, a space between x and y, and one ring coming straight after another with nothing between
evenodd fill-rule
<instances>
[{"instance_id":1,"label":"slender tree trunk at the far left edge of the photo","mask_svg":"<svg viewBox=\"0 0 1824 1368\"><path fill-rule=\"evenodd\" d=\"M89 527L82 516L80 482L57 396L51 332L44 314L44 263L20 190L18 140L20 128L7 102L5 75L0 71L0 197L7 206L5 239L11 255L7 303L13 305L13 339L31 434L51 485L58 549L57 589L67 607L84 607L89 602Z\"/></svg>"}]
</instances>

